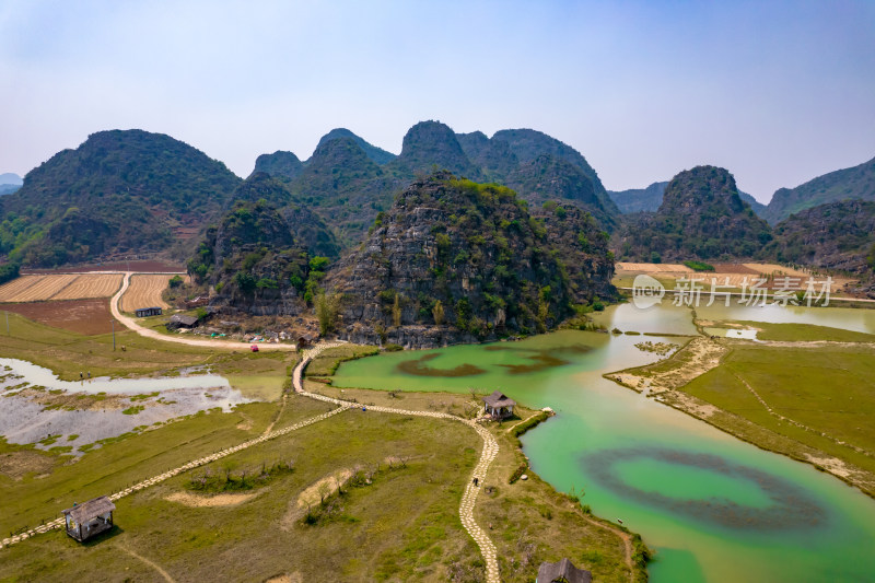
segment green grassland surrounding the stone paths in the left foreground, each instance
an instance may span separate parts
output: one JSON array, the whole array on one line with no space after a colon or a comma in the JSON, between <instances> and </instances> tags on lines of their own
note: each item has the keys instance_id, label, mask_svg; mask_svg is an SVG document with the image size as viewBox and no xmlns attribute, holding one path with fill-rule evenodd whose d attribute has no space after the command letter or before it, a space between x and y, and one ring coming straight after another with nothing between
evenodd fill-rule
<instances>
[{"instance_id":1,"label":"green grassland surrounding the stone paths in the left foreground","mask_svg":"<svg viewBox=\"0 0 875 583\"><path fill-rule=\"evenodd\" d=\"M217 355L127 333L119 335L127 351L113 353L112 337L83 337L16 317L11 324L13 334L0 338L4 354L48 365L67 377L83 368L94 374L142 374L210 364L253 392L277 394L276 383L287 382L296 358ZM371 349L335 349L312 372L330 373L338 359L365 351ZM313 381L307 386L338 390ZM470 395L405 393L398 398L345 389L343 396L460 415L480 407ZM330 407L291 394L231 413L199 413L110 440L75 463L0 442L0 533L36 526L73 502L121 490L246 441L271 422L275 429L288 427ZM529 412L520 410L524 418ZM532 581L541 561L562 557L591 569L597 581L629 581L623 539L629 535L590 516L580 502L557 493L530 471L530 479L509 483L524 462L509 428L492 427L501 453L476 508L478 523L499 547L503 581ZM326 573L340 581L482 581L482 558L458 517L481 446L478 435L458 422L345 411L121 499L117 527L95 541L79 545L56 530L2 549L0 581L161 581L161 571L175 581L313 581ZM208 474L241 477L277 462L291 463L293 471L248 491L254 495L245 500L203 505L224 499L203 500L189 488ZM323 492L325 500L310 509L299 504L305 491L345 469L353 479L341 491ZM199 505L176 501L179 494ZM635 568L634 580L645 576L643 567Z\"/></svg>"}]
</instances>

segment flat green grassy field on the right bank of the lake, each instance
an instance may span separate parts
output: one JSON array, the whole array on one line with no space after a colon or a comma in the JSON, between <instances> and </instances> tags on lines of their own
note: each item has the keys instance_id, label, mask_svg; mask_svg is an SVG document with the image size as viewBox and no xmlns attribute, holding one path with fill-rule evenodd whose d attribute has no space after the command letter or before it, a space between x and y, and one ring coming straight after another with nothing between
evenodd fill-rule
<instances>
[{"instance_id":1,"label":"flat green grassy field on the right bank of the lake","mask_svg":"<svg viewBox=\"0 0 875 583\"><path fill-rule=\"evenodd\" d=\"M803 459L815 450L861 468L875 493L875 349L737 347L682 390L732 413L715 423L731 432L744 430L740 418L785 438L769 438L770 448Z\"/></svg>"}]
</instances>

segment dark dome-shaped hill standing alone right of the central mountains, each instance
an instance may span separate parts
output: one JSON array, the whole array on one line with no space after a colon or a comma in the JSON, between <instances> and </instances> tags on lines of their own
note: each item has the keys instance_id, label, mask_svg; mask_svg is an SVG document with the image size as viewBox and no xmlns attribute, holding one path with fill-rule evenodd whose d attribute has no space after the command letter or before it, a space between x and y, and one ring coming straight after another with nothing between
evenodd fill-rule
<instances>
[{"instance_id":1,"label":"dark dome-shaped hill standing alone right of the central mountains","mask_svg":"<svg viewBox=\"0 0 875 583\"><path fill-rule=\"evenodd\" d=\"M752 257L771 236L739 197L732 174L697 166L668 183L655 213L630 215L612 245L625 259L726 260Z\"/></svg>"}]
</instances>

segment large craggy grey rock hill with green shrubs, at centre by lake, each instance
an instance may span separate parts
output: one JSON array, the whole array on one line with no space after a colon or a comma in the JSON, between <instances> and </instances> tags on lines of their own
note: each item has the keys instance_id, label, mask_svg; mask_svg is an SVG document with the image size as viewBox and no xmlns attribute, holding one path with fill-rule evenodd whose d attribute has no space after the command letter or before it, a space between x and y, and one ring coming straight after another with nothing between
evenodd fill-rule
<instances>
[{"instance_id":1,"label":"large craggy grey rock hill with green shrubs, at centre by lake","mask_svg":"<svg viewBox=\"0 0 875 583\"><path fill-rule=\"evenodd\" d=\"M508 188L448 173L416 180L328 275L326 289L340 299L338 331L433 347L548 329L575 299L609 287L605 255L591 249L597 267L590 280L575 276L575 288L555 244Z\"/></svg>"}]
</instances>

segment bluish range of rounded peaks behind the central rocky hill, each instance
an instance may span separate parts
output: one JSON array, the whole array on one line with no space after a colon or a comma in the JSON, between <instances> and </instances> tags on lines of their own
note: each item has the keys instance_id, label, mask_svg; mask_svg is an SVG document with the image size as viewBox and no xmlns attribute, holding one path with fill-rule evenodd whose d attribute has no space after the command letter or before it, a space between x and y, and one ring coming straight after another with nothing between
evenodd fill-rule
<instances>
[{"instance_id":1,"label":"bluish range of rounded peaks behind the central rocky hill","mask_svg":"<svg viewBox=\"0 0 875 583\"><path fill-rule=\"evenodd\" d=\"M258 156L256 171L284 179L345 247L361 242L405 185L436 170L511 186L533 206L548 200L578 206L608 231L618 224L619 210L583 155L530 129L501 130L490 139L479 131L455 133L440 121L421 121L407 131L395 156L339 128L324 136L300 165L293 155Z\"/></svg>"}]
</instances>

